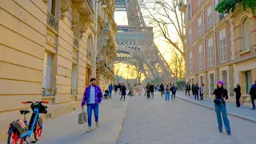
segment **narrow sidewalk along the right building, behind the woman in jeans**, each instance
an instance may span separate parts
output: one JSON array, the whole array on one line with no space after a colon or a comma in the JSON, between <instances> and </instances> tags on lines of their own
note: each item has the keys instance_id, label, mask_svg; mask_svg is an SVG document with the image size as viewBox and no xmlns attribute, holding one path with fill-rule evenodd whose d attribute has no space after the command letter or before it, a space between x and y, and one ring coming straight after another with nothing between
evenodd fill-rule
<instances>
[{"instance_id":1,"label":"narrow sidewalk along the right building, behind the woman in jeans","mask_svg":"<svg viewBox=\"0 0 256 144\"><path fill-rule=\"evenodd\" d=\"M194 100L194 95L190 94L190 96L185 95L185 92L178 91L176 94L177 98L181 98L187 102L193 102L194 104L204 106L214 110L214 99L213 98L204 98L201 100ZM256 110L251 110L251 106L243 106L237 107L234 102L226 102L227 113L233 115L238 118L245 119L250 122L256 122Z\"/></svg>"}]
</instances>

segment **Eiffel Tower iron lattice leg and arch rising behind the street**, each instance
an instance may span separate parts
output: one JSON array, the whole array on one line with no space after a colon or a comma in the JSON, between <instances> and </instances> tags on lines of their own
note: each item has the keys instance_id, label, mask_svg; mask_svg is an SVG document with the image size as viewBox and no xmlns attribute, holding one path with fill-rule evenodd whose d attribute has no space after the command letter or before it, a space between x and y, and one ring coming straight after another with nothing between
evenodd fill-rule
<instances>
[{"instance_id":1,"label":"Eiffel Tower iron lattice leg and arch rising behind the street","mask_svg":"<svg viewBox=\"0 0 256 144\"><path fill-rule=\"evenodd\" d=\"M115 0L115 11L126 11L128 26L118 26L115 62L140 66L146 78L173 82L173 72L154 44L153 27L146 26L138 0Z\"/></svg>"}]
</instances>

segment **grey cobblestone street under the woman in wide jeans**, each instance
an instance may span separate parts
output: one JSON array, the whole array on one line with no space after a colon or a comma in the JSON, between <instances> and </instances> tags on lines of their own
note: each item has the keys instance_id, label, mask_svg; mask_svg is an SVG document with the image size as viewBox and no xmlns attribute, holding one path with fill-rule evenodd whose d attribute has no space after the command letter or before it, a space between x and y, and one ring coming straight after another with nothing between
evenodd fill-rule
<instances>
[{"instance_id":1,"label":"grey cobblestone street under the woman in wide jeans","mask_svg":"<svg viewBox=\"0 0 256 144\"><path fill-rule=\"evenodd\" d=\"M118 144L252 144L256 124L229 115L231 135L218 133L214 110L179 98L166 102L134 96L129 100Z\"/></svg>"}]
</instances>

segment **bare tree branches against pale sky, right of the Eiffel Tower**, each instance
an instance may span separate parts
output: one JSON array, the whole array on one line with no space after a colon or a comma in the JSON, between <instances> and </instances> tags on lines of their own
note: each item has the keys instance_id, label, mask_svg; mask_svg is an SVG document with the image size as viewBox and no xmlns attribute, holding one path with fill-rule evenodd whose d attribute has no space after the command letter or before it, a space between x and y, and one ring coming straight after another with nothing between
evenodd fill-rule
<instances>
[{"instance_id":1,"label":"bare tree branches against pale sky, right of the Eiffel Tower","mask_svg":"<svg viewBox=\"0 0 256 144\"><path fill-rule=\"evenodd\" d=\"M168 1L168 2L167 2ZM148 20L150 26L157 27L157 37L164 38L164 41L170 44L175 50L186 58L185 41L186 32L184 29L184 14L178 10L179 6L186 0L154 0L153 2L142 2L141 6L144 13L144 18ZM173 38L175 30L178 38L182 42L182 46L178 46L178 42Z\"/></svg>"}]
</instances>

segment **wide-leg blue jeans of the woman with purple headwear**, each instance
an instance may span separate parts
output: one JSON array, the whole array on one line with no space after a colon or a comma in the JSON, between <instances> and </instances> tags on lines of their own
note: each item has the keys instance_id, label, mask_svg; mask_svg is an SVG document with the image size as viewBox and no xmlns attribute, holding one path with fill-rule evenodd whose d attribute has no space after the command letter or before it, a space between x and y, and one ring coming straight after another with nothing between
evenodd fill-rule
<instances>
[{"instance_id":1,"label":"wide-leg blue jeans of the woman with purple headwear","mask_svg":"<svg viewBox=\"0 0 256 144\"><path fill-rule=\"evenodd\" d=\"M214 104L214 107L215 107L215 112L218 120L218 130L222 130L222 118L223 118L226 131L230 132L230 121L229 121L229 118L227 118L227 114L226 114L226 104L221 102L219 106Z\"/></svg>"}]
</instances>

